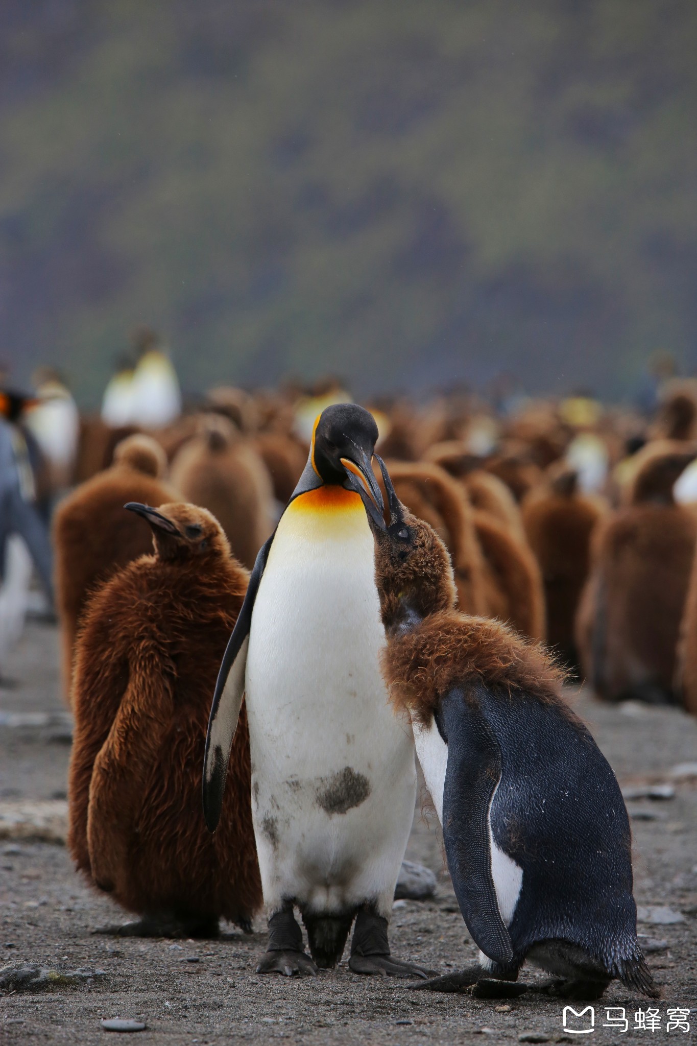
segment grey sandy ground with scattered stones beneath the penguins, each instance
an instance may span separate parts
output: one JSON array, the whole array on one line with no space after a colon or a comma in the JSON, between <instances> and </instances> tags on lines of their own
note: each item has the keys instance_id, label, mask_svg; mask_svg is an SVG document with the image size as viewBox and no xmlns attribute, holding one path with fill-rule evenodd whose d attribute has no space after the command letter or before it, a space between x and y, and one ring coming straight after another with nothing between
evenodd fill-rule
<instances>
[{"instance_id":1,"label":"grey sandy ground with scattered stones beneath the penguins","mask_svg":"<svg viewBox=\"0 0 697 1046\"><path fill-rule=\"evenodd\" d=\"M55 629L30 623L6 675L19 685L0 690L0 834L5 836L19 829L3 822L3 809L26 810L28 803L30 810L30 801L48 800L60 817L65 800L70 728L59 689ZM670 709L604 706L587 693L571 691L570 700L623 787L647 780L673 781L675 787L673 798L628 801L634 892L646 909L641 914L655 917L657 907L680 917L667 925L642 922L638 927L645 941L654 941L649 963L663 985L658 1002L642 1000L613 983L595 1004L595 1031L579 1039L564 1031L561 1000L534 993L512 1000L414 993L404 982L353 975L346 956L338 970L317 979L259 977L255 968L264 948L263 919L250 936L224 927L214 941L94 936L93 928L122 916L75 874L65 846L0 838L0 967L39 963L57 971L103 971L78 986L11 994L0 990L0 1041L110 1042L100 1021L115 1017L144 1022L146 1030L134 1037L143 1044L284 1040L417 1046L628 1043L666 1037L684 1043L697 1038L697 1009L690 1018L690 1033L667 1031L669 1008L697 1007L697 780L671 777L676 765L697 759L697 721ZM439 889L432 902L396 903L393 953L442 972L472 961L475 949L443 870L438 834L420 808L406 857L436 871ZM520 979L534 983L540 976L524 969ZM634 1027L636 1011L649 1006L660 1018L653 1032ZM605 1007L625 1008L626 1033L602 1026ZM618 1017L618 1011L611 1016ZM570 1021L573 1024L573 1018Z\"/></svg>"}]
</instances>

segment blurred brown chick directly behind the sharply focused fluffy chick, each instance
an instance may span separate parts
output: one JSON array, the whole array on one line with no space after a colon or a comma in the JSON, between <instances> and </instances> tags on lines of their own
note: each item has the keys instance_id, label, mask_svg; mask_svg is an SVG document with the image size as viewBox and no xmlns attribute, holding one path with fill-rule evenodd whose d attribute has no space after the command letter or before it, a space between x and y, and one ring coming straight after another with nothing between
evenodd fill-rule
<instances>
[{"instance_id":1,"label":"blurred brown chick directly behind the sharply focused fluffy chick","mask_svg":"<svg viewBox=\"0 0 697 1046\"><path fill-rule=\"evenodd\" d=\"M162 481L166 460L148 436L129 436L114 452L110 469L77 486L53 517L55 606L61 621L66 700L75 634L85 605L101 583L153 545L143 520L123 511L126 501L161 504L171 490Z\"/></svg>"}]
</instances>

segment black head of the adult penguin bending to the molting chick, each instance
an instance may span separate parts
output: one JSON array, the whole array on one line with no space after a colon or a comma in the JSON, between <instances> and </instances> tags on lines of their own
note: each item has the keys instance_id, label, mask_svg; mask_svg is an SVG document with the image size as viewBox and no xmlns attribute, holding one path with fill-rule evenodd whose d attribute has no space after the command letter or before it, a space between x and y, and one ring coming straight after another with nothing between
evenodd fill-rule
<instances>
[{"instance_id":1,"label":"black head of the adult penguin bending to the molting chick","mask_svg":"<svg viewBox=\"0 0 697 1046\"><path fill-rule=\"evenodd\" d=\"M362 491L381 509L382 496L371 467L377 435L370 411L354 403L332 404L315 423L310 460L325 483L345 485L348 474L357 478Z\"/></svg>"}]
</instances>

